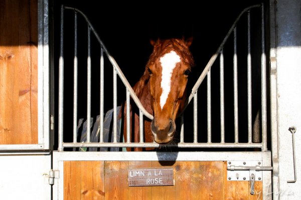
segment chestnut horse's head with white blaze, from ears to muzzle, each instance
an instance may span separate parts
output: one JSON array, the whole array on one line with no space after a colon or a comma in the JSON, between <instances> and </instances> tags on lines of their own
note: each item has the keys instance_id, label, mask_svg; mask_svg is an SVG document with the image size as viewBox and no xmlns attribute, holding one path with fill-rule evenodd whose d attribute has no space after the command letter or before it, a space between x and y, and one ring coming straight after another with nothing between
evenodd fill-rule
<instances>
[{"instance_id":1,"label":"chestnut horse's head with white blaze, from ears to muzzle","mask_svg":"<svg viewBox=\"0 0 301 200\"><path fill-rule=\"evenodd\" d=\"M186 86L193 56L192 40L166 39L151 42L154 46L146 64L154 119L152 133L157 143L169 143L176 130L176 117L185 107Z\"/></svg>"}]
</instances>

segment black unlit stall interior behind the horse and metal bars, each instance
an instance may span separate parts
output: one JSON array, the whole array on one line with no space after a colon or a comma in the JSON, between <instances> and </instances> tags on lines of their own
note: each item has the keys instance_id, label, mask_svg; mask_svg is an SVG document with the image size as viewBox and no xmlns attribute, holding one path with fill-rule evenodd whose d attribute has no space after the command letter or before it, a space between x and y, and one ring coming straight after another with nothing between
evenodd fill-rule
<instances>
[{"instance_id":1,"label":"black unlit stall interior behind the horse and metal bars","mask_svg":"<svg viewBox=\"0 0 301 200\"><path fill-rule=\"evenodd\" d=\"M202 70L206 66L210 57L216 52L232 23L238 14L247 6L258 4L263 2L265 4L266 13L268 13L268 1L267 0L214 0L214 1L193 1L185 0L181 3L176 1L98 1L95 0L53 0L53 38L54 38L54 101L55 101L55 147L57 145L58 135L58 67L59 67L59 55L60 55L60 15L61 5L70 6L80 9L87 15L91 21L95 30L103 41L104 45L115 58L125 77L131 85L133 85L144 71L145 64L148 60L148 56L152 53L152 45L150 45L151 39L164 39L170 37L193 37L193 42L190 47L195 59L196 66L192 70L191 77L189 79L189 88L191 88ZM259 18L256 18L256 16ZM266 14L268 16L268 14ZM72 141L72 109L73 109L73 15L65 14L64 20L64 65L65 65L65 95L64 95L64 141ZM254 14L251 25L252 32L252 45L260 45L260 12ZM245 17L246 18L246 17ZM252 18L253 19L253 18ZM267 18L266 18L267 19ZM244 19L245 20L245 19ZM87 26L81 25L83 22L80 17L78 18L78 54L79 54L79 94L78 94L78 118L86 117L86 63L87 63L87 46L81 44L82 40L86 40ZM267 25L268 20L266 20ZM238 64L245 66L246 62L246 42L247 36L245 33L239 34L240 31L245 30L245 26L242 25L241 29L238 29L238 55L244 56L244 60ZM265 37L268 31L266 30ZM227 84L231 82L233 84L233 36L230 37L231 42L226 44L229 50L225 50L225 119L233 116L233 86ZM266 41L268 41L266 39ZM91 43L96 42L93 37ZM240 45L243 46L240 48ZM98 47L93 47L92 50L97 52ZM253 48L255 49L255 48ZM253 50L252 49L252 50ZM260 49L260 48L257 48ZM268 47L266 46L266 49ZM99 50L99 49L98 49ZM94 51L93 51L94 52ZM99 56L92 52L92 57ZM99 53L99 52L97 52ZM253 64L256 65L256 56L260 55L260 52L254 52ZM83 55L83 58L80 56ZM268 57L268 56L267 56ZM99 114L99 82L93 82L93 77L99 76L99 67L97 67L98 61L92 61L92 105L91 116L96 117ZM216 60L216 64L219 60ZM229 63L227 66L227 63ZM96 66L94 66L94 64ZM105 63L106 64L106 63ZM215 64L215 65L216 65ZM107 65L110 65L107 63ZM219 68L217 66L212 68L212 141L220 141L220 121L219 121ZM82 67L82 69L80 69ZM112 79L111 66L107 67L109 75L105 75L106 79ZM215 67L215 68L214 68ZM255 67L254 67L255 68ZM106 68L105 68L106 70ZM241 68L239 65L239 70ZM268 70L267 70L268 71ZM70 73L70 75L68 74ZM253 72L252 72L253 73ZM254 75L258 75L256 71ZM260 74L259 74L260 77ZM80 79L82 78L82 79ZM95 79L95 78L94 78ZM97 79L97 78L96 78ZM239 87L246 86L246 74L239 76ZM112 91L111 80L109 83L105 83L105 112L112 108ZM118 80L119 81L119 80ZM260 78L258 79L260 82ZM206 78L198 91L198 132L199 142L207 141L207 103L206 103ZM121 82L118 82L118 86ZM255 84L254 84L255 85ZM255 87L255 86L254 86ZM255 89L255 88L254 88ZM83 90L84 92L81 92ZM255 89L256 90L256 89ZM260 89L259 89L260 90ZM188 90L190 91L190 90ZM125 90L122 85L118 87L118 105L125 99ZM190 92L189 92L190 93ZM255 95L255 92L254 92ZM260 94L259 94L260 95ZM239 100L246 101L246 91L242 90L239 93ZM192 104L192 103L191 103ZM253 102L256 107L256 102ZM258 103L257 103L258 104ZM259 102L260 104L260 102ZM242 105L239 110L239 132L247 134L247 118L246 118L246 105ZM187 111L192 111L193 106L189 105ZM231 117L227 117L231 115ZM253 114L255 115L255 114ZM232 121L231 121L232 120ZM203 122L202 122L203 121ZM188 136L185 137L185 141L191 142L193 134L192 119L187 117L185 124L185 132ZM234 139L234 127L233 119L225 121L226 132L229 132L226 137L226 142L233 142ZM69 136L68 136L69 135ZM191 135L191 138L190 138ZM240 142L246 142L243 136L240 137ZM204 149L203 149L204 150ZM213 150L213 149L205 149ZM232 149L233 150L233 149Z\"/></svg>"}]
</instances>

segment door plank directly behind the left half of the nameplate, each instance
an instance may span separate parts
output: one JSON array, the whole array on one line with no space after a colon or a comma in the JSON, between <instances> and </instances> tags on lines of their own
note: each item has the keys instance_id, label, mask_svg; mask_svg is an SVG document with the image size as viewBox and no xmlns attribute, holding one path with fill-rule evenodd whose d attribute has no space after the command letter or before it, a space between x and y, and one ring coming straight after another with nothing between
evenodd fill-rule
<instances>
[{"instance_id":1,"label":"door plank directly behind the left half of the nameplate","mask_svg":"<svg viewBox=\"0 0 301 200\"><path fill-rule=\"evenodd\" d=\"M128 168L152 167L152 161L128 161ZM128 199L152 200L152 186L128 187Z\"/></svg>"}]
</instances>

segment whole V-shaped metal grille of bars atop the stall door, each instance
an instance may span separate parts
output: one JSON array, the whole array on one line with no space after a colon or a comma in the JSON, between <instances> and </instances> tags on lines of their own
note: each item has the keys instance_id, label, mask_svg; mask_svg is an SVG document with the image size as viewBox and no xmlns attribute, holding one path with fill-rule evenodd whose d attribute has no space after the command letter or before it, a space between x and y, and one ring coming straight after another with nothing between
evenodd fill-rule
<instances>
[{"instance_id":1,"label":"whole V-shaped metal grille of bars atop the stall door","mask_svg":"<svg viewBox=\"0 0 301 200\"><path fill-rule=\"evenodd\" d=\"M251 87L251 34L250 34L250 14L253 9L260 9L261 16L259 17L259 23L261 23L261 46L258 48L258 51L261 52L261 142L255 143L252 142L252 87ZM73 83L73 141L72 142L64 142L63 141L63 122L64 122L64 11L73 11L74 13L74 83ZM79 142L78 137L78 54L77 54L77 41L78 41L78 14L80 14L84 20L88 24L87 28L87 109L86 109L86 140L84 142ZM237 24L238 21L242 18L241 16L246 15L247 19L247 142L241 143L239 142L239 134L238 134L238 61L237 61ZM100 97L99 97L99 107L100 107L100 115L99 115L99 140L97 142L91 141L91 33L93 34L100 44ZM230 35L233 35L233 41L231 41ZM226 42L232 42L233 45L233 99L234 99L234 142L226 142L225 141L225 91L224 91L224 45ZM181 115L181 132L180 132L180 141L176 145L178 147L219 147L219 148L261 148L262 151L267 150L267 114L266 114L266 58L265 58L265 46L264 46L264 8L263 4L253 5L245 8L239 16L236 18L235 22L229 29L227 35L223 39L222 43L218 47L215 54L212 55L189 96L189 102L193 99L193 141L192 142L184 142L184 114ZM152 119L152 114L148 113L143 106L141 105L139 99L135 95L132 87L129 82L125 78L122 73L120 67L118 66L115 59L110 55L107 48L101 41L94 27L86 17L84 13L80 10L72 7L63 6L61 7L61 40L60 40L60 59L59 59L59 143L58 150L63 151L64 147L159 147L159 144L153 142L143 142L143 117L147 117ZM212 141L212 112L211 112L211 67L215 63L216 59L219 57L219 82L220 82L220 142ZM112 142L104 142L104 129L103 129L103 121L104 121L104 59L107 58L109 63L113 68L113 125L112 125ZM214 66L215 67L215 66ZM118 142L117 139L117 78L120 78L122 83L125 86L126 90L126 110L127 110L127 132L129 130L129 102L130 97L136 103L139 108L139 127L140 127L140 141L139 142L130 142L129 135L126 139L127 142ZM203 80L207 77L207 142L199 142L198 141L198 125L200 122L198 121L198 89L203 83ZM66 114L66 113L65 113ZM69 113L67 113L69 115ZM203 123L203 122L202 122ZM68 128L69 129L69 128ZM71 129L71 127L70 127Z\"/></svg>"}]
</instances>

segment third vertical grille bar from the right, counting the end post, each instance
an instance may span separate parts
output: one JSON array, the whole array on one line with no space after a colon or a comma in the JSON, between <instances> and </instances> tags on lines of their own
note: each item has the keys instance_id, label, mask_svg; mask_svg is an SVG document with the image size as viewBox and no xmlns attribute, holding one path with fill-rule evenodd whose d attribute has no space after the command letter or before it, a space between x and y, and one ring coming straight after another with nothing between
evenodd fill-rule
<instances>
[{"instance_id":1,"label":"third vertical grille bar from the right, counting the end post","mask_svg":"<svg viewBox=\"0 0 301 200\"><path fill-rule=\"evenodd\" d=\"M237 89L237 37L236 37L236 27L234 28L233 68L234 68L234 134L235 134L235 143L238 143L238 89Z\"/></svg>"}]
</instances>

